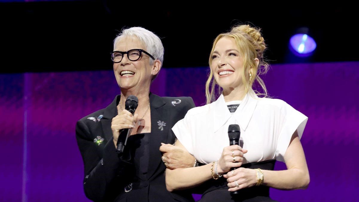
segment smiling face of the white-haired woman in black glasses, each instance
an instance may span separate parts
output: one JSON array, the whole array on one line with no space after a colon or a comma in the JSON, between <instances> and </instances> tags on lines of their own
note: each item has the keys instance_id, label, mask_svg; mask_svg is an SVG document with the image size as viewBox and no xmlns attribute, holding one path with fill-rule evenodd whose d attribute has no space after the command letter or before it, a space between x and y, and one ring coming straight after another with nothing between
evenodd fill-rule
<instances>
[{"instance_id":1,"label":"smiling face of the white-haired woman in black glasses","mask_svg":"<svg viewBox=\"0 0 359 202\"><path fill-rule=\"evenodd\" d=\"M131 49L143 49L146 51L145 45L137 37L121 38L115 44L114 51L126 52ZM152 69L153 65L150 65L150 57L144 53L136 61L129 60L127 54L125 54L120 63L113 63L113 72L121 89L149 89Z\"/></svg>"}]
</instances>

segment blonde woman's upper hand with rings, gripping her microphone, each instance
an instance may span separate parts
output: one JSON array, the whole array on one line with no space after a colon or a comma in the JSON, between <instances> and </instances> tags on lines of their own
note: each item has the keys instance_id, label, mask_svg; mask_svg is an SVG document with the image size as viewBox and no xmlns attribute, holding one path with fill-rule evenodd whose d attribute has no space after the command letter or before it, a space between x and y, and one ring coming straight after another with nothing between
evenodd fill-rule
<instances>
[{"instance_id":1,"label":"blonde woman's upper hand with rings, gripping her microphone","mask_svg":"<svg viewBox=\"0 0 359 202\"><path fill-rule=\"evenodd\" d=\"M233 153L236 158L233 161ZM243 162L243 154L248 150L242 149L239 145L231 145L223 148L222 156L218 160L218 173L220 175L227 173L232 167L240 167Z\"/></svg>"}]
</instances>

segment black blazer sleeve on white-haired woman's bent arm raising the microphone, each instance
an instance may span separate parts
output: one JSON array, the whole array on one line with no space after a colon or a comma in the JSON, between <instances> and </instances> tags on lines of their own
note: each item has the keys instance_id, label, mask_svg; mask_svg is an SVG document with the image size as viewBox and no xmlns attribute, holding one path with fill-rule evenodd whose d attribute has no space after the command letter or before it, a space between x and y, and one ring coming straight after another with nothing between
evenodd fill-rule
<instances>
[{"instance_id":1,"label":"black blazer sleeve on white-haired woman's bent arm raising the microphone","mask_svg":"<svg viewBox=\"0 0 359 202\"><path fill-rule=\"evenodd\" d=\"M119 187L126 183L120 179L126 176L127 167L131 163L118 158L112 139L105 144L103 159L100 159L98 145L92 137L88 126L79 120L76 124L76 140L84 162L84 192L92 201L113 200Z\"/></svg>"}]
</instances>

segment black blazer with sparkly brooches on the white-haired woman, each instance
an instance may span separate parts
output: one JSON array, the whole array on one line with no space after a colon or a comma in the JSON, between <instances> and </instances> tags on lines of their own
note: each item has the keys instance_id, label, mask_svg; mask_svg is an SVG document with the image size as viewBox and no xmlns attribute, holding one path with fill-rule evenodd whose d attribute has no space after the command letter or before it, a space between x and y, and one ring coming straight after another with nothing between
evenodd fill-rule
<instances>
[{"instance_id":1,"label":"black blazer with sparkly brooches on the white-haired woman","mask_svg":"<svg viewBox=\"0 0 359 202\"><path fill-rule=\"evenodd\" d=\"M159 97L150 93L151 133L155 131L156 135L149 136L148 179L133 183L132 190L125 192L124 188L134 179L133 162L126 147L123 156L118 157L111 130L120 97L117 95L105 109L85 116L76 124L76 139L84 162L86 197L93 201L193 201L188 191L167 191L165 166L159 151L161 142L174 142L171 128L195 107L192 98ZM159 125L162 121L165 123L163 130Z\"/></svg>"}]
</instances>

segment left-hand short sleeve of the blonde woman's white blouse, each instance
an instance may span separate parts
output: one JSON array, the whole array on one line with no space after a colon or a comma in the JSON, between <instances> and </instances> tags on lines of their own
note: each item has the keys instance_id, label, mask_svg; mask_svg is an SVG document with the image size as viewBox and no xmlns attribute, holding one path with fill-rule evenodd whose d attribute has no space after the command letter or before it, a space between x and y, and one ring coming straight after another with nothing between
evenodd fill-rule
<instances>
[{"instance_id":1,"label":"left-hand short sleeve of the blonde woman's white blouse","mask_svg":"<svg viewBox=\"0 0 359 202\"><path fill-rule=\"evenodd\" d=\"M192 133L191 133L191 121L189 120L190 116L188 116L188 112L185 118L179 120L176 124L174 124L172 131L176 135L178 141L187 149L187 151L193 155L193 141L192 141Z\"/></svg>"}]
</instances>

